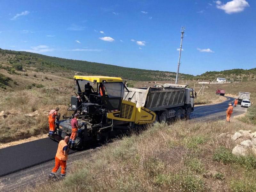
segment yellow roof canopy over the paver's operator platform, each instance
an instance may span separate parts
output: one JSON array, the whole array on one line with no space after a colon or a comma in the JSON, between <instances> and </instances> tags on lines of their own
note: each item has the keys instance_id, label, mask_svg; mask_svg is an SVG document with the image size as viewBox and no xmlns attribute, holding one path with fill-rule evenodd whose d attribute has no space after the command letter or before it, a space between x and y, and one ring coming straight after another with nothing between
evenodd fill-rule
<instances>
[{"instance_id":1,"label":"yellow roof canopy over the paver's operator platform","mask_svg":"<svg viewBox=\"0 0 256 192\"><path fill-rule=\"evenodd\" d=\"M105 82L123 82L121 77L108 77L108 76L78 76L75 75L74 79L76 80L87 80L90 82L102 83Z\"/></svg>"}]
</instances>

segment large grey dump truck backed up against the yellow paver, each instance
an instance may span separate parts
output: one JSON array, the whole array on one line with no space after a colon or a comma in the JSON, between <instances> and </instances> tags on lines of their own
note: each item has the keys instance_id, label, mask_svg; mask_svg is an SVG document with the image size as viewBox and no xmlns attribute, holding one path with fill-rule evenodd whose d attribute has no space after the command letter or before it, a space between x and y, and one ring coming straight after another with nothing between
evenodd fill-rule
<instances>
[{"instance_id":1,"label":"large grey dump truck backed up against the yellow paver","mask_svg":"<svg viewBox=\"0 0 256 192\"><path fill-rule=\"evenodd\" d=\"M194 110L194 92L182 84L163 84L159 87L127 88L124 100L136 103L156 114L156 121L165 122L169 118L189 119Z\"/></svg>"}]
</instances>

